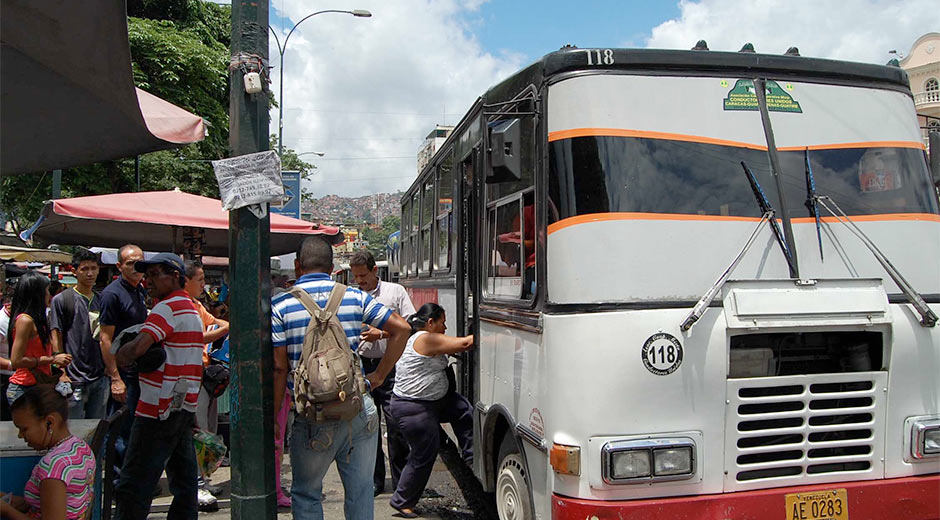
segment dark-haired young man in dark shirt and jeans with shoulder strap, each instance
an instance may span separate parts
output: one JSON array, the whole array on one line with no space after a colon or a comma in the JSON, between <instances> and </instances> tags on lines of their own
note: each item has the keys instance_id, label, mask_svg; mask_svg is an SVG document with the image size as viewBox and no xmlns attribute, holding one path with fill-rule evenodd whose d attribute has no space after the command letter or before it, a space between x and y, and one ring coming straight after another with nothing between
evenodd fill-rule
<instances>
[{"instance_id":1,"label":"dark-haired young man in dark shirt and jeans with shoulder strap","mask_svg":"<svg viewBox=\"0 0 940 520\"><path fill-rule=\"evenodd\" d=\"M49 328L52 329L53 351L72 356L72 363L65 368L72 383L69 419L103 419L111 382L104 377L104 360L97 335L100 302L94 285L98 279L98 255L88 250L75 253L72 267L78 283L52 299Z\"/></svg>"}]
</instances>

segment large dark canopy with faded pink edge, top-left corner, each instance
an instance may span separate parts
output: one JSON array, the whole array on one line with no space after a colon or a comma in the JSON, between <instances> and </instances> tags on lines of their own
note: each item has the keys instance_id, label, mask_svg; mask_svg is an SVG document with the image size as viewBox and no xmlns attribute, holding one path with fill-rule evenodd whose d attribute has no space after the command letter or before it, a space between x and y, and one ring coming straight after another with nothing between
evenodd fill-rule
<instances>
[{"instance_id":1,"label":"large dark canopy with faded pink edge, top-left corner","mask_svg":"<svg viewBox=\"0 0 940 520\"><path fill-rule=\"evenodd\" d=\"M0 174L176 148L202 118L134 86L127 14L113 0L4 0Z\"/></svg>"}]
</instances>

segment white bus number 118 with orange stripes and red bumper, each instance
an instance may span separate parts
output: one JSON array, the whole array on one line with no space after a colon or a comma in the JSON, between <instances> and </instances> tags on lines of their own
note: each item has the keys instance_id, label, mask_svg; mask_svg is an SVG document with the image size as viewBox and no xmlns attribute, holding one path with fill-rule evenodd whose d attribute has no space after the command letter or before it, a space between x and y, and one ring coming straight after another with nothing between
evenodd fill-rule
<instances>
[{"instance_id":1,"label":"white bus number 118 with orange stripes and red bumper","mask_svg":"<svg viewBox=\"0 0 940 520\"><path fill-rule=\"evenodd\" d=\"M896 67L566 48L402 198L401 281L475 334L509 519L940 516L940 212Z\"/></svg>"}]
</instances>

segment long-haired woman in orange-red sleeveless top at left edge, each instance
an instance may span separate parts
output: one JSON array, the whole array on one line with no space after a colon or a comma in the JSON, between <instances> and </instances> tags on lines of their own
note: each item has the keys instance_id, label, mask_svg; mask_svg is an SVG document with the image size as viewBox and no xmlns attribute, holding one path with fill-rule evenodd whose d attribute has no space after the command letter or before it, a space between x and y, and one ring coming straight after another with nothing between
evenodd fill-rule
<instances>
[{"instance_id":1,"label":"long-haired woman in orange-red sleeveless top at left edge","mask_svg":"<svg viewBox=\"0 0 940 520\"><path fill-rule=\"evenodd\" d=\"M16 282L10 308L7 342L10 361L16 372L10 376L7 400L12 405L23 391L49 376L51 365L65 367L72 362L69 354L53 353L46 308L49 306L49 279L36 271L26 271ZM48 381L47 381L48 382Z\"/></svg>"}]
</instances>

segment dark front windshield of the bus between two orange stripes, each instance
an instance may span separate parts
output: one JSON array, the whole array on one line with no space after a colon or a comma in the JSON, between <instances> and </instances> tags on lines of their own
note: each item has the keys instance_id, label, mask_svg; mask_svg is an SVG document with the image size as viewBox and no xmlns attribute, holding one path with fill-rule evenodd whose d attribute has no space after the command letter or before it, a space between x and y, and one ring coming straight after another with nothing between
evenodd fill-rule
<instances>
[{"instance_id":1,"label":"dark front windshield of the bus between two orange stripes","mask_svg":"<svg viewBox=\"0 0 940 520\"><path fill-rule=\"evenodd\" d=\"M848 215L938 212L923 151L915 148L810 150L819 195ZM791 216L803 209L803 151L779 152ZM549 146L553 219L607 212L760 217L741 168L752 169L772 204L779 193L768 153L743 147L667 139L584 136Z\"/></svg>"}]
</instances>

